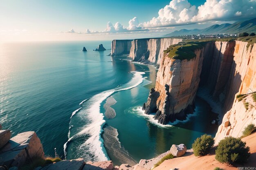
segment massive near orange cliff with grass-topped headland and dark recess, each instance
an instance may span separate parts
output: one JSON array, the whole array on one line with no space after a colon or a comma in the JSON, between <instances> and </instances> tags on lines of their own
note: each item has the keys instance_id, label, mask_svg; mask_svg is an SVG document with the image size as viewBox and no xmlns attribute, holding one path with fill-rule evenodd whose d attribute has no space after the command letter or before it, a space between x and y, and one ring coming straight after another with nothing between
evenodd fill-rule
<instances>
[{"instance_id":1,"label":"massive near orange cliff with grass-topped headland and dark recess","mask_svg":"<svg viewBox=\"0 0 256 170\"><path fill-rule=\"evenodd\" d=\"M199 86L209 90L222 103L224 112L231 109L236 93L256 91L255 46L241 41L183 42L170 46L161 58L155 88L151 89L143 109L156 113L161 124L184 120L193 113Z\"/></svg>"}]
</instances>

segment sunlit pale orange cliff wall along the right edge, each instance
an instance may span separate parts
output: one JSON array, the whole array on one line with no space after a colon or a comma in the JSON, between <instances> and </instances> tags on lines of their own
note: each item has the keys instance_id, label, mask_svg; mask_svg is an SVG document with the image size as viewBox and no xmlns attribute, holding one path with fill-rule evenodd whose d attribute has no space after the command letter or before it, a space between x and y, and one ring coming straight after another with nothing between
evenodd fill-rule
<instances>
[{"instance_id":1,"label":"sunlit pale orange cliff wall along the right edge","mask_svg":"<svg viewBox=\"0 0 256 170\"><path fill-rule=\"evenodd\" d=\"M256 103L252 96L247 95L240 102L236 99L239 94L256 91L256 44L247 48L247 42L236 41L228 81L224 105L226 114L216 133L216 143L226 136L240 137L248 124L256 124ZM248 109L245 103L249 105Z\"/></svg>"}]
</instances>

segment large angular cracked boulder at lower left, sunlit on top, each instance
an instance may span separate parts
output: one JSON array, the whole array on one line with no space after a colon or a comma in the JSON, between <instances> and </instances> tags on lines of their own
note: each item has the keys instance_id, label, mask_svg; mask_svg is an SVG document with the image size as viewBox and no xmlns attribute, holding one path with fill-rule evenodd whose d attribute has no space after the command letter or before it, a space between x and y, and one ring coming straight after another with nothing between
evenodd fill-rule
<instances>
[{"instance_id":1,"label":"large angular cracked boulder at lower left, sunlit on top","mask_svg":"<svg viewBox=\"0 0 256 170\"><path fill-rule=\"evenodd\" d=\"M36 132L23 132L11 138L0 150L0 157L6 166L22 166L34 157L44 157L43 146Z\"/></svg>"}]
</instances>

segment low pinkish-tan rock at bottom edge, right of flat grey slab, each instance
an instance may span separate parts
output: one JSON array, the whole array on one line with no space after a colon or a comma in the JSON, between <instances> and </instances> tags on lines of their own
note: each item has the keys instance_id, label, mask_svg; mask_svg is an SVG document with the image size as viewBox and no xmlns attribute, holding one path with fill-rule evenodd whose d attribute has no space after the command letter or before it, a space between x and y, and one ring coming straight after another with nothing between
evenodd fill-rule
<instances>
[{"instance_id":1,"label":"low pinkish-tan rock at bottom edge, right of flat grey slab","mask_svg":"<svg viewBox=\"0 0 256 170\"><path fill-rule=\"evenodd\" d=\"M86 162L83 170L112 170L114 168L112 161Z\"/></svg>"}]
</instances>

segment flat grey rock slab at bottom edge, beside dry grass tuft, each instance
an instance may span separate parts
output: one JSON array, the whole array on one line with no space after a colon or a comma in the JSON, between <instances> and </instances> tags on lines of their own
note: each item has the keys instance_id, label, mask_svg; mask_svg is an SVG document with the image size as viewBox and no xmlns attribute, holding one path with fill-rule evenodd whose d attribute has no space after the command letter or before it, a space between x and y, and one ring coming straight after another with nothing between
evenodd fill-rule
<instances>
[{"instance_id":1,"label":"flat grey rock slab at bottom edge, beside dry grass tuft","mask_svg":"<svg viewBox=\"0 0 256 170\"><path fill-rule=\"evenodd\" d=\"M45 166L41 170L82 170L84 165L83 158L74 160L63 160Z\"/></svg>"}]
</instances>

